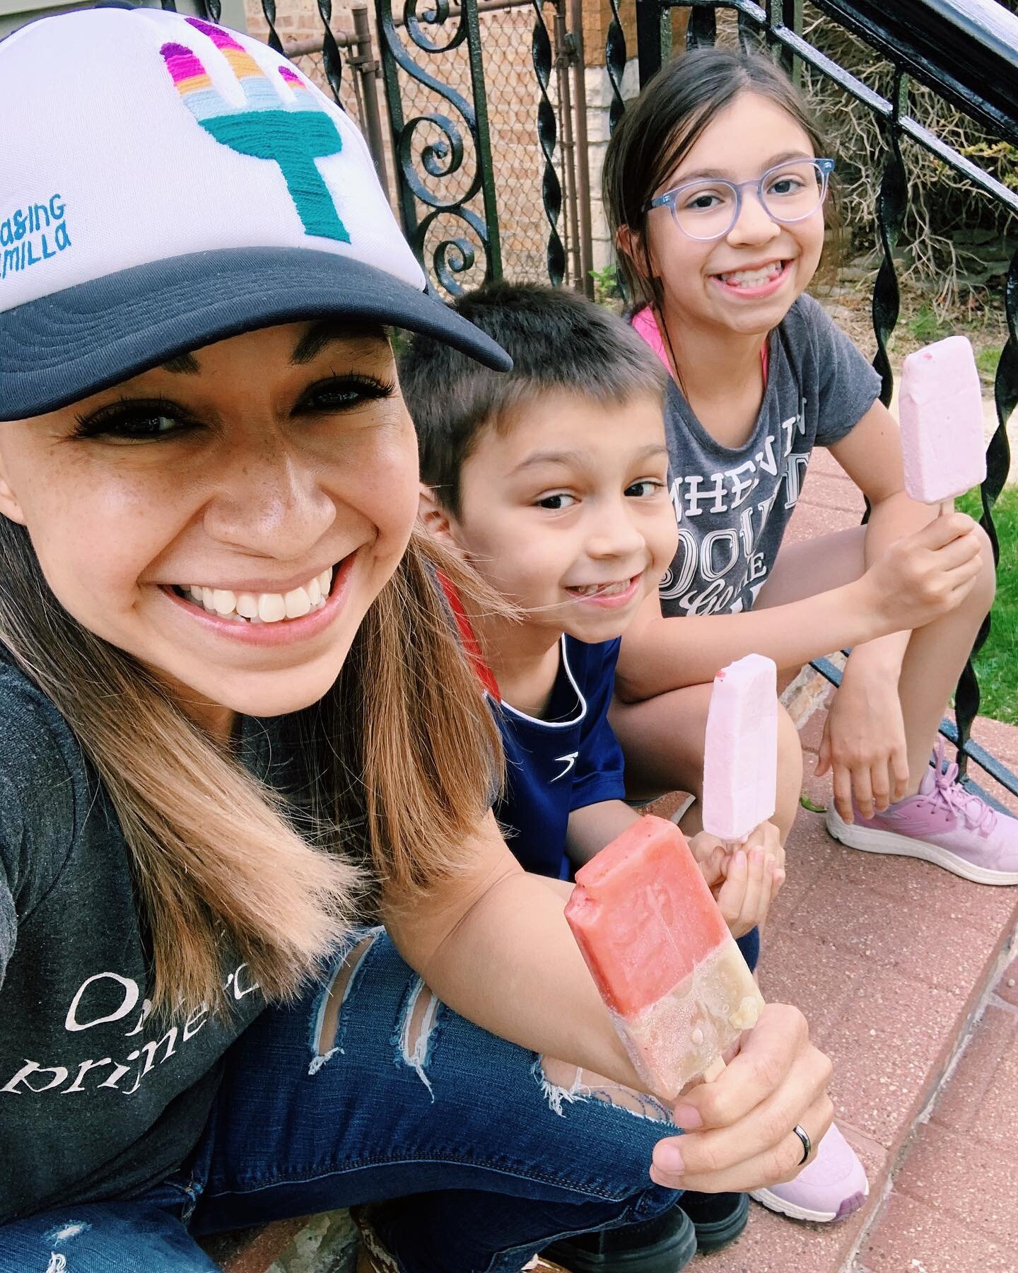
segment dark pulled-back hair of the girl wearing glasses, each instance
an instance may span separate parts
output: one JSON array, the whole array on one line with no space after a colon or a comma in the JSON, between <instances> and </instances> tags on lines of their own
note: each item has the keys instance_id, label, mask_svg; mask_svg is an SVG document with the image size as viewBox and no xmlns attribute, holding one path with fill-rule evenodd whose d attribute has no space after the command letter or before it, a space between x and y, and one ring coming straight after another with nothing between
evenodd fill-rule
<instances>
[{"instance_id":1,"label":"dark pulled-back hair of the girl wearing glasses","mask_svg":"<svg viewBox=\"0 0 1018 1273\"><path fill-rule=\"evenodd\" d=\"M635 102L626 107L604 155L602 195L612 243L629 295L636 308L660 308L660 280L646 247L646 205L695 145L704 129L739 93L756 93L780 106L803 129L816 155L826 143L819 125L788 76L762 53L695 48L667 62ZM836 233L835 200L825 204ZM635 255L618 242L626 228Z\"/></svg>"}]
</instances>

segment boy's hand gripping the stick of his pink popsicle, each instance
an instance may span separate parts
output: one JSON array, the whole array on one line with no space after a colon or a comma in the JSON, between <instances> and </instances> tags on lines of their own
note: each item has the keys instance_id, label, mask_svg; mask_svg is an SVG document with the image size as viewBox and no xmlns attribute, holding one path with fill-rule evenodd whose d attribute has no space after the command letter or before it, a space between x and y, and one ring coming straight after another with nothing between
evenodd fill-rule
<instances>
[{"instance_id":1,"label":"boy's hand gripping the stick of his pink popsicle","mask_svg":"<svg viewBox=\"0 0 1018 1273\"><path fill-rule=\"evenodd\" d=\"M690 840L690 849L732 936L742 937L762 924L785 882L785 850L777 827L761 822L734 850L700 831Z\"/></svg>"}]
</instances>

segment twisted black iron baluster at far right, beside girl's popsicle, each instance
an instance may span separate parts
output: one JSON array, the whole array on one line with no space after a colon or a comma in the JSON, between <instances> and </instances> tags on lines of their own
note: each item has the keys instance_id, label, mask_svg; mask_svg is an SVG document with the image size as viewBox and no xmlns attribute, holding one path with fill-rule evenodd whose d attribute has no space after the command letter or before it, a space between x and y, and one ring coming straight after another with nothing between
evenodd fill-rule
<instances>
[{"instance_id":1,"label":"twisted black iron baluster at far right, beside girl's popsicle","mask_svg":"<svg viewBox=\"0 0 1018 1273\"><path fill-rule=\"evenodd\" d=\"M980 524L990 537L994 550L994 570L1000 561L1000 544L994 526L993 508L996 496L1008 480L1010 468L1010 446L1008 443L1008 416L1018 405L1018 253L1012 257L1008 279L1004 284L1004 313L1008 318L1008 340L996 364L994 378L994 404L996 406L996 429L986 448L986 479L980 488L982 516ZM990 616L980 624L972 653L965 665L954 691L954 721L958 726L958 768L965 773L968 764L966 743L972 732L972 722L979 714L979 680L972 666L972 658L980 652L990 635Z\"/></svg>"}]
</instances>

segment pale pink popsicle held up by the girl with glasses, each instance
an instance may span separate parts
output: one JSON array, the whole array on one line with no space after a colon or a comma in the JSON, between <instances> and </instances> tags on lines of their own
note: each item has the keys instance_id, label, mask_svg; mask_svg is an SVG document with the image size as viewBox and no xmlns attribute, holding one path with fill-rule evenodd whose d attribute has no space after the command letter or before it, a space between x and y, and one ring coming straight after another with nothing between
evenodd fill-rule
<instances>
[{"instance_id":1,"label":"pale pink popsicle held up by the girl with glasses","mask_svg":"<svg viewBox=\"0 0 1018 1273\"><path fill-rule=\"evenodd\" d=\"M912 499L940 504L984 480L982 391L965 336L938 340L905 359L898 416Z\"/></svg>"}]
</instances>

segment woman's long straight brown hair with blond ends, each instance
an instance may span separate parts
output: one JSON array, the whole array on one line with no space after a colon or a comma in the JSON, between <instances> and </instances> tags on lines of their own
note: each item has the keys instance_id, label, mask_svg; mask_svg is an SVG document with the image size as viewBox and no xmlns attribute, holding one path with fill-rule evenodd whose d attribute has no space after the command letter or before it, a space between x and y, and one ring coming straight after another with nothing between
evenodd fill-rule
<instances>
[{"instance_id":1,"label":"woman's long straight brown hair with blond ends","mask_svg":"<svg viewBox=\"0 0 1018 1273\"><path fill-rule=\"evenodd\" d=\"M448 877L487 808L498 729L435 584L498 598L415 531L324 699L286 719L308 775L289 802L193 724L137 659L50 591L24 527L0 517L0 642L67 721L134 859L163 1012L219 1006L228 953L266 998L322 970L382 889ZM303 833L303 834L302 834Z\"/></svg>"}]
</instances>

